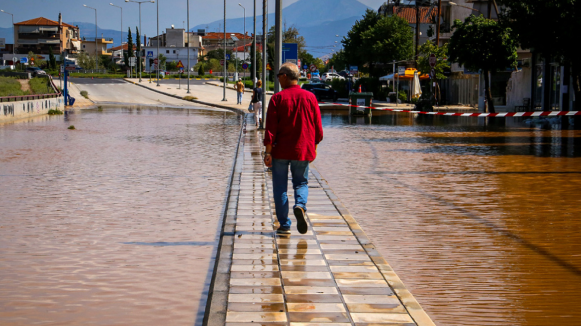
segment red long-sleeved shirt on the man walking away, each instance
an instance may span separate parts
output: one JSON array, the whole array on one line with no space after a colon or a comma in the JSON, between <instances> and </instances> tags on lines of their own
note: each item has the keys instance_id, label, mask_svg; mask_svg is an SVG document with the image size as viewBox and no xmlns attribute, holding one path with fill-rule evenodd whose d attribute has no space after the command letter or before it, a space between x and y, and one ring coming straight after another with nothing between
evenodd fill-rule
<instances>
[{"instance_id":1,"label":"red long-sleeved shirt on the man walking away","mask_svg":"<svg viewBox=\"0 0 581 326\"><path fill-rule=\"evenodd\" d=\"M270 98L264 146L272 145L272 158L313 161L315 144L322 139L321 111L313 93L291 85Z\"/></svg>"}]
</instances>

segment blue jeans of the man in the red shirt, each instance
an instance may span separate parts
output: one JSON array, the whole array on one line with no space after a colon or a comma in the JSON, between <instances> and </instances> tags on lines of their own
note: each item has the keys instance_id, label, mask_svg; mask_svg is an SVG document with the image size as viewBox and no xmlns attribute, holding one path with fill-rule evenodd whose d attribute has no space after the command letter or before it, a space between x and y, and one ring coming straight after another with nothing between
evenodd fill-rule
<instances>
[{"instance_id":1,"label":"blue jeans of the man in the red shirt","mask_svg":"<svg viewBox=\"0 0 581 326\"><path fill-rule=\"evenodd\" d=\"M288 173L292 175L292 188L295 190L295 206L307 211L309 197L309 161L272 159L272 193L278 223L284 229L290 229L288 191Z\"/></svg>"}]
</instances>

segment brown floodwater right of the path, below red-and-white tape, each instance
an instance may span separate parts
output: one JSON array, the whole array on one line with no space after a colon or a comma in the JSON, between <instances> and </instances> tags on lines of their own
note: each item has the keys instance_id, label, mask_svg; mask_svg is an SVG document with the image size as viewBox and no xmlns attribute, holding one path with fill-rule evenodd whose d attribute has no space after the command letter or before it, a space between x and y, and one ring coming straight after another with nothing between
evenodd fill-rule
<instances>
[{"instance_id":1,"label":"brown floodwater right of the path, below red-and-white tape","mask_svg":"<svg viewBox=\"0 0 581 326\"><path fill-rule=\"evenodd\" d=\"M436 325L581 325L581 131L322 118L315 165Z\"/></svg>"}]
</instances>

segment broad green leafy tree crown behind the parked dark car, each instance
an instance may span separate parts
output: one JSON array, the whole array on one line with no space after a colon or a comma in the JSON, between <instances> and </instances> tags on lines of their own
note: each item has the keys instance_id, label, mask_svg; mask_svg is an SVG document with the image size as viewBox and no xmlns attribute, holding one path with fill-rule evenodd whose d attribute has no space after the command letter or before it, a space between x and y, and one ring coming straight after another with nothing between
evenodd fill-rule
<instances>
[{"instance_id":1,"label":"broad green leafy tree crown behind the parked dark car","mask_svg":"<svg viewBox=\"0 0 581 326\"><path fill-rule=\"evenodd\" d=\"M375 70L376 63L391 63L412 57L413 38L414 32L407 20L398 16L379 16L368 9L363 19L356 21L341 42L349 64L379 77L384 71Z\"/></svg>"}]
</instances>

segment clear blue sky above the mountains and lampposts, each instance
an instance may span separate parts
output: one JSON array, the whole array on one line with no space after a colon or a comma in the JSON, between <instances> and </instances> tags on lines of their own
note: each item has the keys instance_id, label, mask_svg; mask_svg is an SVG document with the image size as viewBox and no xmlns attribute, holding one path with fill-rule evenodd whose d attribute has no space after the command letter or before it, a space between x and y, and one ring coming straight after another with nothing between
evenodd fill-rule
<instances>
[{"instance_id":1,"label":"clear blue sky above the mountains and lampposts","mask_svg":"<svg viewBox=\"0 0 581 326\"><path fill-rule=\"evenodd\" d=\"M283 0L286 7L299 0ZM311 2L318 0L310 0ZM385 0L358 0L371 8L377 9ZM58 20L59 12L62 12L63 21L95 22L95 11L84 8L83 5L97 9L97 24L100 28L120 30L121 9L109 5L123 7L123 30L127 27L139 26L139 5L124 0L0 0L0 9L14 15L15 23L36 17L45 17ZM238 3L246 7L246 19L252 19L252 6L254 0L226 0L226 17L243 17L243 9ZM275 0L268 0L269 12L274 10ZM153 36L156 34L156 6L159 4L159 30L163 31L174 24L176 28L187 27L187 0L159 0L158 3L143 3L141 5L141 25L143 34ZM262 12L262 0L256 0L257 15ZM223 19L224 1L222 0L189 0L189 26L211 23ZM309 10L309 8L305 8ZM325 13L321 13L325 15ZM185 23L183 23L185 21ZM0 27L12 27L10 15L0 12Z\"/></svg>"}]
</instances>

